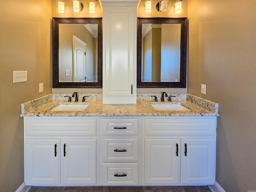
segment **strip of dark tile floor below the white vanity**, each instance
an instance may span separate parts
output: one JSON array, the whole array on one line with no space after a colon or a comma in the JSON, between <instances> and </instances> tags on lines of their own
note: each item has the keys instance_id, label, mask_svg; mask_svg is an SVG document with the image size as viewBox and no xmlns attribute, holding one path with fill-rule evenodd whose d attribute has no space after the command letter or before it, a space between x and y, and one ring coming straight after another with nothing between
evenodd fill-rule
<instances>
[{"instance_id":1,"label":"strip of dark tile floor below the white vanity","mask_svg":"<svg viewBox=\"0 0 256 192\"><path fill-rule=\"evenodd\" d=\"M32 187L29 192L211 192L208 186Z\"/></svg>"}]
</instances>

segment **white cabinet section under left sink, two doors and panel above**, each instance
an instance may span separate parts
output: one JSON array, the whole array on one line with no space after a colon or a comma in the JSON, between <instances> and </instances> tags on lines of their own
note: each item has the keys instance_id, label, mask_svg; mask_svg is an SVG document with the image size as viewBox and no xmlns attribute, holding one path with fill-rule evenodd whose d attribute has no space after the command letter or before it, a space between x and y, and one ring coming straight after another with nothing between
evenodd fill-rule
<instances>
[{"instance_id":1,"label":"white cabinet section under left sink, two doors and panel above","mask_svg":"<svg viewBox=\"0 0 256 192\"><path fill-rule=\"evenodd\" d=\"M26 184L97 184L97 127L97 118L24 118Z\"/></svg>"}]
</instances>

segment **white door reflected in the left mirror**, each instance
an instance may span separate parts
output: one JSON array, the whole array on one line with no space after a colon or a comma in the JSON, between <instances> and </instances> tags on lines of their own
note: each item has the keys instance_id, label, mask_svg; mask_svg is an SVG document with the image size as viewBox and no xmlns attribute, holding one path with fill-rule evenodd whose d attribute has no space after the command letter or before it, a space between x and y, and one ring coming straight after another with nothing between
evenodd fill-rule
<instances>
[{"instance_id":1,"label":"white door reflected in the left mirror","mask_svg":"<svg viewBox=\"0 0 256 192\"><path fill-rule=\"evenodd\" d=\"M86 82L86 43L74 35L73 82Z\"/></svg>"}]
</instances>

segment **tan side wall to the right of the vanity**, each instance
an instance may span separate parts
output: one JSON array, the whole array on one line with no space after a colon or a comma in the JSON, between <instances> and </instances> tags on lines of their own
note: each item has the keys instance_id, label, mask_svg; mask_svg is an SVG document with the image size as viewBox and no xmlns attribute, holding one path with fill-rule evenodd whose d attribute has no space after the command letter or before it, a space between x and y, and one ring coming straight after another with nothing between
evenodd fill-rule
<instances>
[{"instance_id":1,"label":"tan side wall to the right of the vanity","mask_svg":"<svg viewBox=\"0 0 256 192\"><path fill-rule=\"evenodd\" d=\"M256 190L255 10L254 0L188 0L188 93L220 104L216 181L226 192Z\"/></svg>"}]
</instances>

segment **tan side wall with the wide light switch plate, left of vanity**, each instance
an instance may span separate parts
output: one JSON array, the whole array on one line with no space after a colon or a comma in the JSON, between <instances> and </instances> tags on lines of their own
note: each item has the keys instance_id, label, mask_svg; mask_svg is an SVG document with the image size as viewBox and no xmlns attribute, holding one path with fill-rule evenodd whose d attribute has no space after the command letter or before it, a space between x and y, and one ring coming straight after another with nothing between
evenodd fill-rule
<instances>
[{"instance_id":1,"label":"tan side wall with the wide light switch plate, left of vanity","mask_svg":"<svg viewBox=\"0 0 256 192\"><path fill-rule=\"evenodd\" d=\"M0 191L14 192L24 182L20 104L51 92L51 0L1 0L0 17ZM13 84L14 70L28 82Z\"/></svg>"}]
</instances>

